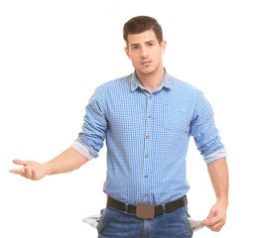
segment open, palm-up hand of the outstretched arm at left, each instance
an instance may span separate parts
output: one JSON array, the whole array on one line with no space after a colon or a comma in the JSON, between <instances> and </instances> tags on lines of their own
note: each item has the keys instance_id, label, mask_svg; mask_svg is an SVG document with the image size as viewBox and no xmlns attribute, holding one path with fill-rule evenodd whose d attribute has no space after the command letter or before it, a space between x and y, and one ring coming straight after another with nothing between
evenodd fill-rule
<instances>
[{"instance_id":1,"label":"open, palm-up hand of the outstretched arm at left","mask_svg":"<svg viewBox=\"0 0 256 238\"><path fill-rule=\"evenodd\" d=\"M11 173L20 175L26 179L39 180L47 175L44 164L34 161L13 160L13 163L18 166L23 166L21 169L10 170Z\"/></svg>"}]
</instances>

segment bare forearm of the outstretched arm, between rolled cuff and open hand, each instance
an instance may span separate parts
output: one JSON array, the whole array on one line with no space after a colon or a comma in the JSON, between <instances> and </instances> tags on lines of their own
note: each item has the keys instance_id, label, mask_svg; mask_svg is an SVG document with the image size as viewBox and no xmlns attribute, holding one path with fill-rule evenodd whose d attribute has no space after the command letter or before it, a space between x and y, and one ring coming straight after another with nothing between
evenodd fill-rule
<instances>
[{"instance_id":1,"label":"bare forearm of the outstretched arm, between rolled cuff and open hand","mask_svg":"<svg viewBox=\"0 0 256 238\"><path fill-rule=\"evenodd\" d=\"M77 170L88 160L73 148L69 147L60 156L44 164L48 176Z\"/></svg>"}]
</instances>

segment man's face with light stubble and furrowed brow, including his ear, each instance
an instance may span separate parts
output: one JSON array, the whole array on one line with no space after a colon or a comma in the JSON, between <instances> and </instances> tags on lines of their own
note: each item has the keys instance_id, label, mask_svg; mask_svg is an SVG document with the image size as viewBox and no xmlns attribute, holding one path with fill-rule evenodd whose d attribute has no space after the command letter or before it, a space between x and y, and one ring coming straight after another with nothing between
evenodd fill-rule
<instances>
[{"instance_id":1,"label":"man's face with light stubble and furrowed brow, including his ear","mask_svg":"<svg viewBox=\"0 0 256 238\"><path fill-rule=\"evenodd\" d=\"M163 67L162 54L166 50L166 41L159 44L152 30L129 34L125 52L137 73L149 75Z\"/></svg>"}]
</instances>

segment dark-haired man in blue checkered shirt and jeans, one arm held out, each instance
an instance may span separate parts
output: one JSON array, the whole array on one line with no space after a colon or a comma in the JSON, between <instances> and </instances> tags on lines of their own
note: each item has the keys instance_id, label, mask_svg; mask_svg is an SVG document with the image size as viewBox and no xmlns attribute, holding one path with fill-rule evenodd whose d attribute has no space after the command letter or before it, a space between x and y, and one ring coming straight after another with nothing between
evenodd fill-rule
<instances>
[{"instance_id":1,"label":"dark-haired man in blue checkered shirt and jeans, one arm held out","mask_svg":"<svg viewBox=\"0 0 256 238\"><path fill-rule=\"evenodd\" d=\"M106 139L108 201L99 237L192 237L186 197L192 135L216 194L202 224L219 231L226 219L228 170L212 109L199 90L164 68L167 42L154 18L132 18L123 37L135 71L95 90L82 132L63 154L45 164L14 160L24 167L11 172L27 179L71 172L98 157Z\"/></svg>"}]
</instances>

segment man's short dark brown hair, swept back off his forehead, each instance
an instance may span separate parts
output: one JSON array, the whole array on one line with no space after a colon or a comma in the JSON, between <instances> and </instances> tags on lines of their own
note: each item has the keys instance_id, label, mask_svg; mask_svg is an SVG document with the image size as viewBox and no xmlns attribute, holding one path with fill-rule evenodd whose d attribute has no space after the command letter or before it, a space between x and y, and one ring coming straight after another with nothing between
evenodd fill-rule
<instances>
[{"instance_id":1,"label":"man's short dark brown hair, swept back off his forehead","mask_svg":"<svg viewBox=\"0 0 256 238\"><path fill-rule=\"evenodd\" d=\"M129 34L143 33L148 30L153 30L159 44L163 42L163 31L162 27L155 18L148 16L138 16L130 19L123 27L123 38L124 41L128 42Z\"/></svg>"}]
</instances>

